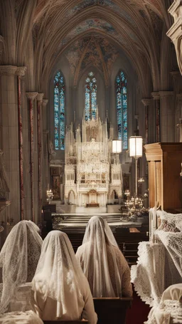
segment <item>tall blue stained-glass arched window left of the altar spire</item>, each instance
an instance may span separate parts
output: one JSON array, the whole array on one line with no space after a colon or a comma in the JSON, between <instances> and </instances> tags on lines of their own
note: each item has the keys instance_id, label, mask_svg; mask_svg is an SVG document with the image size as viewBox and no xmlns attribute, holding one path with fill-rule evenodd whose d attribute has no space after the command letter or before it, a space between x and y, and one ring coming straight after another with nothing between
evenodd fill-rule
<instances>
[{"instance_id":1,"label":"tall blue stained-glass arched window left of the altar spire","mask_svg":"<svg viewBox=\"0 0 182 324\"><path fill-rule=\"evenodd\" d=\"M65 80L60 71L54 78L54 145L65 150Z\"/></svg>"}]
</instances>

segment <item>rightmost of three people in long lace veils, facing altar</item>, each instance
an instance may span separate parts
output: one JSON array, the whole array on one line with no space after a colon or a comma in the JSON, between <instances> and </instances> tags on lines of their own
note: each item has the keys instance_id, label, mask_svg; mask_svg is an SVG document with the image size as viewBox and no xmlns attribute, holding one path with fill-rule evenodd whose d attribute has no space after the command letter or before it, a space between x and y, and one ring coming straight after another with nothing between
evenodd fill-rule
<instances>
[{"instance_id":1,"label":"rightmost of three people in long lace veils, facing altar","mask_svg":"<svg viewBox=\"0 0 182 324\"><path fill-rule=\"evenodd\" d=\"M128 263L107 221L101 216L90 218L76 257L90 284L93 297L132 296Z\"/></svg>"}]
</instances>

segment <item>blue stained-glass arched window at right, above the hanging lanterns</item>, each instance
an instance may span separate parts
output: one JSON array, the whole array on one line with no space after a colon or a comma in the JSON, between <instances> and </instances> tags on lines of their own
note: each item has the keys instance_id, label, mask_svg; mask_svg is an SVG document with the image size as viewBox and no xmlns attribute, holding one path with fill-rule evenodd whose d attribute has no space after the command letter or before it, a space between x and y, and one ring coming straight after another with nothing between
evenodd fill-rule
<instances>
[{"instance_id":1,"label":"blue stained-glass arched window at right, above the hanging lanterns","mask_svg":"<svg viewBox=\"0 0 182 324\"><path fill-rule=\"evenodd\" d=\"M118 140L122 140L123 149L128 148L128 122L127 122L127 78L119 72L116 79L117 91L117 132Z\"/></svg>"}]
</instances>

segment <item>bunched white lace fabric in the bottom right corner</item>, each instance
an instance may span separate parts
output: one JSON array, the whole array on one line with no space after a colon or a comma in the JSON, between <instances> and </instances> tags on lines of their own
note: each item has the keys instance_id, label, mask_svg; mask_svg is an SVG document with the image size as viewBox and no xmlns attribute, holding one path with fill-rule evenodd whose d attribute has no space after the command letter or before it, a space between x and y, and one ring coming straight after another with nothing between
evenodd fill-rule
<instances>
[{"instance_id":1,"label":"bunched white lace fabric in the bottom right corner","mask_svg":"<svg viewBox=\"0 0 182 324\"><path fill-rule=\"evenodd\" d=\"M151 308L145 324L182 323L182 283L169 286L159 305Z\"/></svg>"}]
</instances>

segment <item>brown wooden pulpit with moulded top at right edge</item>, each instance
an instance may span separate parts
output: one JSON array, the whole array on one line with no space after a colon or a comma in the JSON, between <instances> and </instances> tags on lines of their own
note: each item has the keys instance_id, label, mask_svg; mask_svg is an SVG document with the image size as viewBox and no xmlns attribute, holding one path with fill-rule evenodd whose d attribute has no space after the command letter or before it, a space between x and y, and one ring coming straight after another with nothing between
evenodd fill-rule
<instances>
[{"instance_id":1,"label":"brown wooden pulpit with moulded top at right edge","mask_svg":"<svg viewBox=\"0 0 182 324\"><path fill-rule=\"evenodd\" d=\"M182 142L144 146L149 162L149 207L166 211L182 208Z\"/></svg>"}]
</instances>

